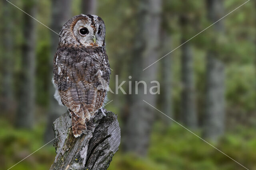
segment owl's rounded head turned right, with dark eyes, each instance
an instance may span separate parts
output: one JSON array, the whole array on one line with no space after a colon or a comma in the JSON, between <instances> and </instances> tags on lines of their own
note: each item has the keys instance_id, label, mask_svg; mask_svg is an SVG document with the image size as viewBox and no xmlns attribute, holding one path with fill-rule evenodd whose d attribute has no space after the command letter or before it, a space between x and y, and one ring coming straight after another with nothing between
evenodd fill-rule
<instances>
[{"instance_id":1,"label":"owl's rounded head turned right, with dark eyes","mask_svg":"<svg viewBox=\"0 0 256 170\"><path fill-rule=\"evenodd\" d=\"M105 33L105 24L100 17L80 14L63 25L59 45L104 46Z\"/></svg>"}]
</instances>

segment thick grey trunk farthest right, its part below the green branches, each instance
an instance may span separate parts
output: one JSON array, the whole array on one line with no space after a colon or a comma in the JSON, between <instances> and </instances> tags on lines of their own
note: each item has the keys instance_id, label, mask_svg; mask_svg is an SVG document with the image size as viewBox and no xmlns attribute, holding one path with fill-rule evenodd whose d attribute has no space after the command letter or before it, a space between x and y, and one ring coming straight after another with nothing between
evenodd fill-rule
<instances>
[{"instance_id":1,"label":"thick grey trunk farthest right, its part below the green branches","mask_svg":"<svg viewBox=\"0 0 256 170\"><path fill-rule=\"evenodd\" d=\"M224 99L224 65L208 53L206 73L206 114L204 120L204 136L216 141L224 133L225 99Z\"/></svg>"}]
</instances>

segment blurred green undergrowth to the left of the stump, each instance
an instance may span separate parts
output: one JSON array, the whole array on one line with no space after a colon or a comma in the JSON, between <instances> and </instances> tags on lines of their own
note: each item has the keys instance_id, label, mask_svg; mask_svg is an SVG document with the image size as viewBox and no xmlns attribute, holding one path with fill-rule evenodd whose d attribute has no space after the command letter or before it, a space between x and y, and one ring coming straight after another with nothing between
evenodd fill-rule
<instances>
[{"instance_id":1,"label":"blurred green undergrowth to the left of the stump","mask_svg":"<svg viewBox=\"0 0 256 170\"><path fill-rule=\"evenodd\" d=\"M8 169L44 145L44 127L37 125L33 130L16 129L2 117L0 119L0 169ZM17 170L49 169L55 157L51 144L35 152L15 166Z\"/></svg>"}]
</instances>

